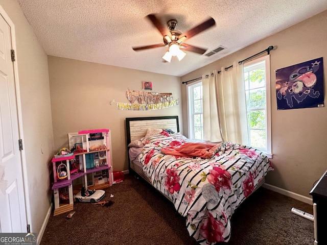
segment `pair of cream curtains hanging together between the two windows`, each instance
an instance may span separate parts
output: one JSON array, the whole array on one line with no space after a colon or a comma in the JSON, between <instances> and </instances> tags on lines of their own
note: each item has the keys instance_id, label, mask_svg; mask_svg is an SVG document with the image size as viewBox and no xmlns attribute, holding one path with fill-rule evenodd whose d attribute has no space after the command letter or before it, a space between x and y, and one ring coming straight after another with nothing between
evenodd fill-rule
<instances>
[{"instance_id":1,"label":"pair of cream curtains hanging together between the two windows","mask_svg":"<svg viewBox=\"0 0 327 245\"><path fill-rule=\"evenodd\" d=\"M243 65L202 79L204 140L248 143ZM215 98L214 98L215 96ZM216 104L215 104L216 101ZM219 134L218 132L219 131Z\"/></svg>"}]
</instances>

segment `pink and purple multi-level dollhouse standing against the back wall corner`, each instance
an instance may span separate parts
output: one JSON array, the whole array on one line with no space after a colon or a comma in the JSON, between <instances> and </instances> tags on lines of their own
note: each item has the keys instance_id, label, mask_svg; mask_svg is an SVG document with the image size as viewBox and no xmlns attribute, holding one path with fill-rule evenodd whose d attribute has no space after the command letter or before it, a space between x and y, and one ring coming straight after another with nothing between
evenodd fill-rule
<instances>
[{"instance_id":1,"label":"pink and purple multi-level dollhouse standing against the back wall corner","mask_svg":"<svg viewBox=\"0 0 327 245\"><path fill-rule=\"evenodd\" d=\"M81 178L83 183L76 185L76 187L84 186L90 189L106 188L113 183L109 129L69 133L68 144L69 149L75 149L73 154L55 156L52 159L54 215L73 210L73 183L76 183L77 179ZM60 166L64 166L65 170L60 171L61 169L58 169ZM61 178L61 173L67 176ZM78 191L79 189L74 192Z\"/></svg>"}]
</instances>

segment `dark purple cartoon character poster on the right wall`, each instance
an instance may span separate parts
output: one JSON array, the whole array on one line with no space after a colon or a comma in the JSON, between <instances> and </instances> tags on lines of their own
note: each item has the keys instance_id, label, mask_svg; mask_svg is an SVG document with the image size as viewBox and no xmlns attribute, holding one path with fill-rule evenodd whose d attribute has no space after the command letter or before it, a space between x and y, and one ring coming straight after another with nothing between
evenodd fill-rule
<instances>
[{"instance_id":1,"label":"dark purple cartoon character poster on the right wall","mask_svg":"<svg viewBox=\"0 0 327 245\"><path fill-rule=\"evenodd\" d=\"M323 107L322 57L276 70L277 110Z\"/></svg>"}]
</instances>

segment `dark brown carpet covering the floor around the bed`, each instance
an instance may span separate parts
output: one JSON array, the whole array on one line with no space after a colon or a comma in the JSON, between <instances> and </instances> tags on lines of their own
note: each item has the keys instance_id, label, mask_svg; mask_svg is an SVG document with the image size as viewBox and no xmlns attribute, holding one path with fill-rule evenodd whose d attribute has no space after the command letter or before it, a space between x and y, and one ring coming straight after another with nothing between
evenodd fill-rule
<instances>
[{"instance_id":1,"label":"dark brown carpet covering the floor around the bed","mask_svg":"<svg viewBox=\"0 0 327 245\"><path fill-rule=\"evenodd\" d=\"M105 191L103 200L114 202L109 207L74 203L71 219L51 215L40 245L198 244L174 206L142 178L125 175ZM312 214L309 204L259 188L233 214L227 244L312 245L313 222L291 213L292 207Z\"/></svg>"}]
</instances>

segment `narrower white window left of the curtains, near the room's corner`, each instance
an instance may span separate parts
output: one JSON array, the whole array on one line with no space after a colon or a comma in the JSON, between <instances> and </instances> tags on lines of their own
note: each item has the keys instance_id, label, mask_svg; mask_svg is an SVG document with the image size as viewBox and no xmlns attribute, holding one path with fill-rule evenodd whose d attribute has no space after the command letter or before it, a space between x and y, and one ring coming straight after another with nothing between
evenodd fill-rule
<instances>
[{"instance_id":1,"label":"narrower white window left of the curtains, near the room's corner","mask_svg":"<svg viewBox=\"0 0 327 245\"><path fill-rule=\"evenodd\" d=\"M189 138L203 139L202 80L188 84Z\"/></svg>"}]
</instances>

